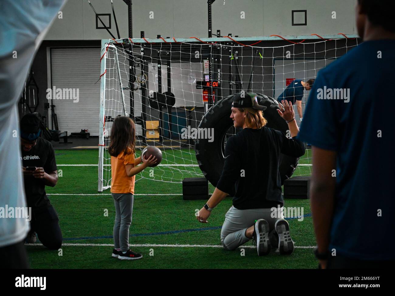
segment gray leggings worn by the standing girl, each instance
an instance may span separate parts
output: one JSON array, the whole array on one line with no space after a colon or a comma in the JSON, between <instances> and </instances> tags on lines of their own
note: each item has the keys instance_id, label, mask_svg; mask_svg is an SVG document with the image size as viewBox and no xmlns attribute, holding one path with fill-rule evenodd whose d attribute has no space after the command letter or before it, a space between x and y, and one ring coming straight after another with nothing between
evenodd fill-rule
<instances>
[{"instance_id":1,"label":"gray leggings worn by the standing girl","mask_svg":"<svg viewBox=\"0 0 395 296\"><path fill-rule=\"evenodd\" d=\"M115 205L114 247L126 252L129 250L129 227L132 224L133 194L111 193L111 195Z\"/></svg>"}]
</instances>

